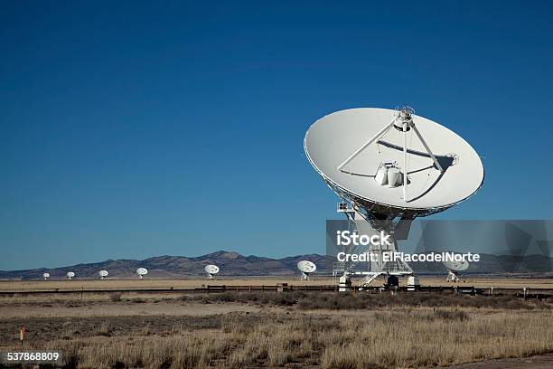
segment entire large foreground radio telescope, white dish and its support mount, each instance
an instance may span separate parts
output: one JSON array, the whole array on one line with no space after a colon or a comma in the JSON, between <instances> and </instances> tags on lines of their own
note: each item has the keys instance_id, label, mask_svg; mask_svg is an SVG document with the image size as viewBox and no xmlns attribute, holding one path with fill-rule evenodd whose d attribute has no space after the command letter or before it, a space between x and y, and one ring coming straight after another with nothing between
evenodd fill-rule
<instances>
[{"instance_id":1,"label":"entire large foreground radio telescope, white dish and its support mount","mask_svg":"<svg viewBox=\"0 0 553 369\"><path fill-rule=\"evenodd\" d=\"M317 120L305 134L305 155L342 203L339 212L360 235L385 232L390 245L370 245L361 287L381 274L413 275L401 260L384 261L398 251L392 235L407 237L416 217L443 212L483 185L480 156L448 128L415 115L413 109L346 109ZM407 225L406 225L407 224ZM352 271L351 264L344 266Z\"/></svg>"}]
</instances>

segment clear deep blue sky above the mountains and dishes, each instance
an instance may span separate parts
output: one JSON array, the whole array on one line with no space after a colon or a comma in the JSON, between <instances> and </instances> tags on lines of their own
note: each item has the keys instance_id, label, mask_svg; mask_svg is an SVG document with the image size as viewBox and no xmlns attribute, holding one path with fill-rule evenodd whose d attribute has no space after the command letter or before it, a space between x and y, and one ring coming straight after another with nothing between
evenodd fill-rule
<instances>
[{"instance_id":1,"label":"clear deep blue sky above the mountains and dishes","mask_svg":"<svg viewBox=\"0 0 553 369\"><path fill-rule=\"evenodd\" d=\"M0 270L324 252L323 115L408 103L485 156L447 219L552 218L550 2L0 2Z\"/></svg>"}]
</instances>

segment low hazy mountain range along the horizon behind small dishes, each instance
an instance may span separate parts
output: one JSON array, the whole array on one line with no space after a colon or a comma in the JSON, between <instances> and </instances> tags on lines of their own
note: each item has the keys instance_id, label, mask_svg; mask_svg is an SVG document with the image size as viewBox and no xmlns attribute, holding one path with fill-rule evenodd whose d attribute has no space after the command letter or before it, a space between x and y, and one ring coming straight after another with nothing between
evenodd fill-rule
<instances>
[{"instance_id":1,"label":"low hazy mountain range along the horizon behind small dishes","mask_svg":"<svg viewBox=\"0 0 553 369\"><path fill-rule=\"evenodd\" d=\"M98 278L98 270L108 270L109 277L129 278L135 277L136 269L140 267L147 269L151 278L194 278L202 276L203 268L208 264L219 266L221 276L289 276L298 273L296 264L299 260L311 260L317 265L318 273L329 274L335 259L319 254L271 259L244 256L234 251L216 251L195 258L164 255L145 260L105 260L51 269L0 270L0 279L42 279L44 272L50 273L52 279L65 279L68 271L75 272L78 278L92 279ZM413 262L410 265L417 274L445 273L445 267L440 263ZM463 273L553 277L553 258L481 254L481 260L472 263Z\"/></svg>"}]
</instances>

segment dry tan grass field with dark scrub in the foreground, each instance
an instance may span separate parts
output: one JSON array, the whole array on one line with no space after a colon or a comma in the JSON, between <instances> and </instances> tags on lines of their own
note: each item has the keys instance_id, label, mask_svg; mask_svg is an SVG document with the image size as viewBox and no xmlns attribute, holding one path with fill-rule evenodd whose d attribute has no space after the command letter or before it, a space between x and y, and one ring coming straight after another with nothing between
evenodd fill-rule
<instances>
[{"instance_id":1,"label":"dry tan grass field with dark scrub in the foreground","mask_svg":"<svg viewBox=\"0 0 553 369\"><path fill-rule=\"evenodd\" d=\"M25 349L61 350L67 368L415 368L553 352L553 304L508 296L85 296L0 298L0 351L18 348L24 324Z\"/></svg>"}]
</instances>

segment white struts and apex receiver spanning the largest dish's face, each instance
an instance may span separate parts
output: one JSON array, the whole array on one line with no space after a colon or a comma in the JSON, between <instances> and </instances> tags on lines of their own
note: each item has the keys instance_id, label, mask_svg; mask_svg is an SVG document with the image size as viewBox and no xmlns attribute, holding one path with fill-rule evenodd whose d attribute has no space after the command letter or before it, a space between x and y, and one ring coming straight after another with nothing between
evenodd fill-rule
<instances>
[{"instance_id":1,"label":"white struts and apex receiver spanning the largest dish's face","mask_svg":"<svg viewBox=\"0 0 553 369\"><path fill-rule=\"evenodd\" d=\"M430 157L432 157L432 160L434 161L434 164L438 168L438 170L441 173L444 173L444 168L440 165L440 163L437 161L436 156L434 156L434 153L432 153L432 150L428 145L426 144L425 138L422 137L420 131L418 130L417 126L415 125L415 122L413 121L413 114L415 111L409 107L403 107L401 109L398 109L396 111L396 114L394 115L394 118L389 122L387 126L380 129L379 133L374 135L373 137L370 137L369 141L365 142L361 147L359 147L357 150L351 154L351 156L348 156L347 159L345 159L340 166L338 166L338 170L340 170L343 173L349 173L344 170L342 170L343 166L346 166L348 163L351 162L355 158L355 156L358 156L361 154L361 152L369 147L371 144L375 142L379 142L380 139L388 133L388 131L391 128L396 128L399 131L403 132L403 200L404 202L408 202L408 193L407 193L407 185L408 185L408 131L413 128L415 133L417 134L418 139L422 143L422 145L425 147L426 153Z\"/></svg>"}]
</instances>

